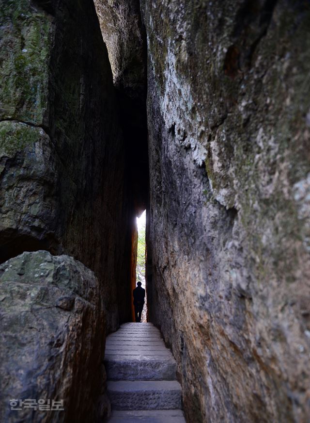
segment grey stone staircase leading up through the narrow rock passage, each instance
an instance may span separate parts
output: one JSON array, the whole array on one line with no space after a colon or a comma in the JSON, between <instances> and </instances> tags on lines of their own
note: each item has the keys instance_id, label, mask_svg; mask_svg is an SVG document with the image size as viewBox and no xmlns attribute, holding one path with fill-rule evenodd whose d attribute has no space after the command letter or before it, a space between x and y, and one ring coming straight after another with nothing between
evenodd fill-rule
<instances>
[{"instance_id":1,"label":"grey stone staircase leading up through the narrow rock passage","mask_svg":"<svg viewBox=\"0 0 310 423\"><path fill-rule=\"evenodd\" d=\"M109 423L185 423L176 363L151 323L126 323L108 336Z\"/></svg>"}]
</instances>

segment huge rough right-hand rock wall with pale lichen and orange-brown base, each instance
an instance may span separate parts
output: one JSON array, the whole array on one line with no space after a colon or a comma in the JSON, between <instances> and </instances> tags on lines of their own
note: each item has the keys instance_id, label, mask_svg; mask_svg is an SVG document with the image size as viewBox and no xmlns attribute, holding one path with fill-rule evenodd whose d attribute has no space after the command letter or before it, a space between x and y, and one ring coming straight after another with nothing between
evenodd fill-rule
<instances>
[{"instance_id":1,"label":"huge rough right-hand rock wall with pale lichen and orange-brown base","mask_svg":"<svg viewBox=\"0 0 310 423\"><path fill-rule=\"evenodd\" d=\"M150 321L189 422L310 415L310 10L142 0Z\"/></svg>"}]
</instances>

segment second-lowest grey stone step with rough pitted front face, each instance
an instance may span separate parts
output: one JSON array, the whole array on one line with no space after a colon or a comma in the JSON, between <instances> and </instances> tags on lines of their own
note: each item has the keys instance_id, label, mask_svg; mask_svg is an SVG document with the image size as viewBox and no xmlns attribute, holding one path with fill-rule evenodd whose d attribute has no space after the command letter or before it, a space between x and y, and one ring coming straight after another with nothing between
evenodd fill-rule
<instances>
[{"instance_id":1,"label":"second-lowest grey stone step with rough pitted front face","mask_svg":"<svg viewBox=\"0 0 310 423\"><path fill-rule=\"evenodd\" d=\"M114 410L167 410L181 408L181 385L176 380L109 381Z\"/></svg>"}]
</instances>

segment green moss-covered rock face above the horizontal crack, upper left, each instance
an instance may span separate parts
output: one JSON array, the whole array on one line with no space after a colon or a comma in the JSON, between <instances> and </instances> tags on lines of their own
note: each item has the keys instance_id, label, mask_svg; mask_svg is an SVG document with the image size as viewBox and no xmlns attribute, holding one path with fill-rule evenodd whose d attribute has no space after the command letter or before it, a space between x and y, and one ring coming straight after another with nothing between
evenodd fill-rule
<instances>
[{"instance_id":1,"label":"green moss-covered rock face above the horizontal crack, upper left","mask_svg":"<svg viewBox=\"0 0 310 423\"><path fill-rule=\"evenodd\" d=\"M0 117L41 124L47 111L51 20L29 1L0 7Z\"/></svg>"}]
</instances>

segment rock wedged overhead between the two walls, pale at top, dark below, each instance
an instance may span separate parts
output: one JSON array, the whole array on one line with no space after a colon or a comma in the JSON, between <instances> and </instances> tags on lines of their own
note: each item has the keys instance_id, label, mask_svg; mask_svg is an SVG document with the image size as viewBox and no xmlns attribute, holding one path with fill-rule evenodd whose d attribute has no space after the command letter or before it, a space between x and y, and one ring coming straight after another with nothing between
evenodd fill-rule
<instances>
[{"instance_id":1,"label":"rock wedged overhead between the two walls, pale at top, dark below","mask_svg":"<svg viewBox=\"0 0 310 423\"><path fill-rule=\"evenodd\" d=\"M139 0L94 0L107 45L125 137L126 175L137 214L148 204L146 38Z\"/></svg>"}]
</instances>

